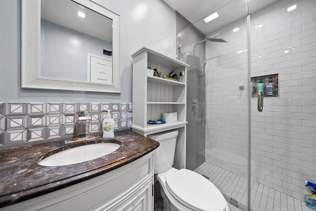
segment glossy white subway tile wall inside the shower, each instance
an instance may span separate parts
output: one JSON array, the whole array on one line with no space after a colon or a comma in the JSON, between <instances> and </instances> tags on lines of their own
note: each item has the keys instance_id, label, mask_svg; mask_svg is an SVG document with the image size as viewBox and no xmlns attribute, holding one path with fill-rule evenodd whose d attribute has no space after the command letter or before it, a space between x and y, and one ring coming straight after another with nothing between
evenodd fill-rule
<instances>
[{"instance_id":1,"label":"glossy white subway tile wall inside the shower","mask_svg":"<svg viewBox=\"0 0 316 211\"><path fill-rule=\"evenodd\" d=\"M315 14L316 0L280 0L250 23L251 76L279 74L279 97L263 112L251 100L251 179L299 200L304 181L316 182ZM228 43L206 42L206 162L246 176L246 19L215 33Z\"/></svg>"}]
</instances>

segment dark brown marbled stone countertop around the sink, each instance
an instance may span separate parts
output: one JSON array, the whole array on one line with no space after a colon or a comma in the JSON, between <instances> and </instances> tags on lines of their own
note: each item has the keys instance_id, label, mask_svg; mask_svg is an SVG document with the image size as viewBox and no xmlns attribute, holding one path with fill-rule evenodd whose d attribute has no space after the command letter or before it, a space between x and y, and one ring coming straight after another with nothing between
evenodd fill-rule
<instances>
[{"instance_id":1,"label":"dark brown marbled stone countertop around the sink","mask_svg":"<svg viewBox=\"0 0 316 211\"><path fill-rule=\"evenodd\" d=\"M51 151L95 142L117 142L121 146L103 157L66 166L40 166L38 161ZM65 143L52 141L0 149L0 207L22 202L110 172L159 146L157 141L131 132L115 132L114 139Z\"/></svg>"}]
</instances>

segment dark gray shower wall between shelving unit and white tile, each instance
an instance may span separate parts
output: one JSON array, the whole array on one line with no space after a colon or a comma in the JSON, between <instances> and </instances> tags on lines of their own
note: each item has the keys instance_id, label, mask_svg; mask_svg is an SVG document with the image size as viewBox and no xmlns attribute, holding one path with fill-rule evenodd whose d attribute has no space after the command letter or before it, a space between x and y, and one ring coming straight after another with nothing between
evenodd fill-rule
<instances>
[{"instance_id":1,"label":"dark gray shower wall between shelving unit and white tile","mask_svg":"<svg viewBox=\"0 0 316 211\"><path fill-rule=\"evenodd\" d=\"M178 12L176 14L177 33L182 44L177 50L177 59L190 65L187 71L187 159L186 168L196 169L205 161L205 127L202 125L202 86L204 78L200 70L205 61L205 43L193 47L193 43L205 38L197 28ZM197 109L192 109L192 100L197 99Z\"/></svg>"}]
</instances>

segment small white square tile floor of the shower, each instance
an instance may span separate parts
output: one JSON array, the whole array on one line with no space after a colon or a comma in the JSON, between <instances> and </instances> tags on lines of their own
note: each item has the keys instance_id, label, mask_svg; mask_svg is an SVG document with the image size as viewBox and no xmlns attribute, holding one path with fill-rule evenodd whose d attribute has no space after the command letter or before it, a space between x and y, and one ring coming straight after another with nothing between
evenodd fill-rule
<instances>
[{"instance_id":1,"label":"small white square tile floor of the shower","mask_svg":"<svg viewBox=\"0 0 316 211\"><path fill-rule=\"evenodd\" d=\"M196 170L198 174L209 177L209 180L222 192L225 199L237 201L237 207L246 210L247 179L235 173L204 162ZM298 199L283 194L258 182L251 181L252 211L314 211ZM253 197L254 196L254 197Z\"/></svg>"}]
</instances>

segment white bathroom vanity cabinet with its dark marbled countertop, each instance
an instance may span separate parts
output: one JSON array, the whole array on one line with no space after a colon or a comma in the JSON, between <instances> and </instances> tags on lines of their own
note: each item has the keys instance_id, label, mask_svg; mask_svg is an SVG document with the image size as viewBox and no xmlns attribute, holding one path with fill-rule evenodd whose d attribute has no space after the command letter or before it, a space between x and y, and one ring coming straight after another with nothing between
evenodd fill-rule
<instances>
[{"instance_id":1,"label":"white bathroom vanity cabinet with its dark marbled countertop","mask_svg":"<svg viewBox=\"0 0 316 211\"><path fill-rule=\"evenodd\" d=\"M47 153L74 144L65 141L0 150L0 211L153 210L153 153L159 143L131 131L115 135L116 151L73 165L38 164Z\"/></svg>"}]
</instances>

